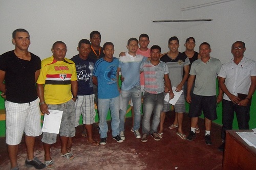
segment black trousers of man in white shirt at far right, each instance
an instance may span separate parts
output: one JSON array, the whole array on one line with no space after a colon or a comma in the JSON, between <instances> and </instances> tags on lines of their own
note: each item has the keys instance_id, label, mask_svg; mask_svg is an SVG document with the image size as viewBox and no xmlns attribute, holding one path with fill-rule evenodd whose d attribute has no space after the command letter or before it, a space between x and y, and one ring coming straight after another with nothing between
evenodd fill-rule
<instances>
[{"instance_id":1,"label":"black trousers of man in white shirt at far right","mask_svg":"<svg viewBox=\"0 0 256 170\"><path fill-rule=\"evenodd\" d=\"M222 101L222 129L221 138L225 140L225 130L233 129L234 112L236 112L239 129L249 129L250 105L238 106L231 101Z\"/></svg>"}]
</instances>

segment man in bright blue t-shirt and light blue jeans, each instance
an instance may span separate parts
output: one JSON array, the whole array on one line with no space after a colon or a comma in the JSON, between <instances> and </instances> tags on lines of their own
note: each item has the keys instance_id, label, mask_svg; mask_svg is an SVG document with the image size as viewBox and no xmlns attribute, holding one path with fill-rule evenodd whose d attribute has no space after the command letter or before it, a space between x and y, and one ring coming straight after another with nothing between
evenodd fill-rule
<instances>
[{"instance_id":1,"label":"man in bright blue t-shirt and light blue jeans","mask_svg":"<svg viewBox=\"0 0 256 170\"><path fill-rule=\"evenodd\" d=\"M106 42L103 45L105 56L96 61L93 71L93 83L98 86L99 133L100 144L106 144L108 125L106 116L110 109L112 136L117 142L123 142L119 136L119 109L120 89L118 86L117 67L118 59L113 57L114 44Z\"/></svg>"}]
</instances>

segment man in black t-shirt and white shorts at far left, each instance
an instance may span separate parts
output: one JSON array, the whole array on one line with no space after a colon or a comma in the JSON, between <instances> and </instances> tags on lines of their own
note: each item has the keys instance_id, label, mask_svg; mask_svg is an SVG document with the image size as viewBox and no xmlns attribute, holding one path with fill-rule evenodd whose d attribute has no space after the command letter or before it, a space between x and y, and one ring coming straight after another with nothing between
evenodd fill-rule
<instances>
[{"instance_id":1,"label":"man in black t-shirt and white shorts at far left","mask_svg":"<svg viewBox=\"0 0 256 170\"><path fill-rule=\"evenodd\" d=\"M12 33L13 51L0 57L0 91L6 98L6 143L11 169L18 169L18 144L25 132L27 158L25 164L37 169L45 168L34 157L35 136L41 135L39 99L35 83L40 74L41 60L30 53L28 31L17 29ZM4 84L5 81L5 84Z\"/></svg>"}]
</instances>

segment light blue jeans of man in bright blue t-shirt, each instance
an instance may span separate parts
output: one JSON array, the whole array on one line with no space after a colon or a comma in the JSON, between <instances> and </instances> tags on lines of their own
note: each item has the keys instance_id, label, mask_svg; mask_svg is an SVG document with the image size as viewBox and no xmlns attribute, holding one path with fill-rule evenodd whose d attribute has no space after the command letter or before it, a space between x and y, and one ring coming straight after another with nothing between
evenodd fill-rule
<instances>
[{"instance_id":1,"label":"light blue jeans of man in bright blue t-shirt","mask_svg":"<svg viewBox=\"0 0 256 170\"><path fill-rule=\"evenodd\" d=\"M99 133L100 138L107 137L108 124L106 124L106 116L110 109L111 114L111 129L112 136L119 135L119 95L112 99L98 99L98 109L99 109Z\"/></svg>"}]
</instances>

